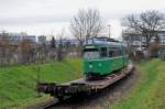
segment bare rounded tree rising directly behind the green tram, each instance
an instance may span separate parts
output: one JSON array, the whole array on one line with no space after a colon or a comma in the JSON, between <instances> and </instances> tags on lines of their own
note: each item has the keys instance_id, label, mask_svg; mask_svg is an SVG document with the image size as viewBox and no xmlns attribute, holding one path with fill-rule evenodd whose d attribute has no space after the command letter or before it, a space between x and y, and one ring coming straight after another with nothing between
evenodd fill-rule
<instances>
[{"instance_id":1,"label":"bare rounded tree rising directly behind the green tram","mask_svg":"<svg viewBox=\"0 0 165 109\"><path fill-rule=\"evenodd\" d=\"M79 10L70 22L70 30L80 46L86 39L99 35L105 29L103 20L96 9Z\"/></svg>"}]
</instances>

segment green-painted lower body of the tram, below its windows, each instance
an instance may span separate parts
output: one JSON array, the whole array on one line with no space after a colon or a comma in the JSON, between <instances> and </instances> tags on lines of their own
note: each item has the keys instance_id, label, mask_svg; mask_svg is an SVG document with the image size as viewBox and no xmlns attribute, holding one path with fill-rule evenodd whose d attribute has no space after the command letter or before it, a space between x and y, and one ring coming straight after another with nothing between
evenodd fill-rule
<instances>
[{"instance_id":1,"label":"green-painted lower body of the tram, below its windows","mask_svg":"<svg viewBox=\"0 0 165 109\"><path fill-rule=\"evenodd\" d=\"M123 59L124 58L124 59ZM123 63L123 61L125 63ZM100 75L111 74L125 66L128 59L125 56L102 58L102 59L86 59L84 61L84 73L99 73ZM92 66L92 67L91 67Z\"/></svg>"}]
</instances>

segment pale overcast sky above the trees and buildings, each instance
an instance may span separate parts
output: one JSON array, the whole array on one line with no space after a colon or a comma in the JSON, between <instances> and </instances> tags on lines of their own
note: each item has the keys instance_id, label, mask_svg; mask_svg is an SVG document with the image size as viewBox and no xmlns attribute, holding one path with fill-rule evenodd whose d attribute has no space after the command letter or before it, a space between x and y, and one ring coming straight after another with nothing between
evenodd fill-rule
<instances>
[{"instance_id":1,"label":"pale overcast sky above the trees and buildings","mask_svg":"<svg viewBox=\"0 0 165 109\"><path fill-rule=\"evenodd\" d=\"M165 12L164 0L0 0L0 31L73 37L69 23L79 9L98 9L111 37L119 39L121 19L145 10ZM108 26L107 26L108 30Z\"/></svg>"}]
</instances>

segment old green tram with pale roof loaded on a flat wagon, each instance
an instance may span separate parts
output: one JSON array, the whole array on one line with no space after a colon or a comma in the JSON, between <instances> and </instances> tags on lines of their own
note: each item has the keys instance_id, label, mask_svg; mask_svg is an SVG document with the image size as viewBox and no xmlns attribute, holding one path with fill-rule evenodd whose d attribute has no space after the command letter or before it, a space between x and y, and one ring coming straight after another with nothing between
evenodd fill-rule
<instances>
[{"instance_id":1,"label":"old green tram with pale roof loaded on a flat wagon","mask_svg":"<svg viewBox=\"0 0 165 109\"><path fill-rule=\"evenodd\" d=\"M128 65L128 55L121 42L108 37L95 37L84 44L84 74L102 77Z\"/></svg>"}]
</instances>

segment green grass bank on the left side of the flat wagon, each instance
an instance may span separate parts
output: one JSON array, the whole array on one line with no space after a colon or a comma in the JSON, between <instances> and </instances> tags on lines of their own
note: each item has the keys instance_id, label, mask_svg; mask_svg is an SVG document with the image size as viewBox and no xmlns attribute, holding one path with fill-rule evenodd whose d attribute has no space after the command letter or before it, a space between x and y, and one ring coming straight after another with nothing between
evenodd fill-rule
<instances>
[{"instance_id":1,"label":"green grass bank on the left side of the flat wagon","mask_svg":"<svg viewBox=\"0 0 165 109\"><path fill-rule=\"evenodd\" d=\"M67 58L42 65L0 67L0 109L18 109L45 99L38 98L34 90L38 66L41 81L65 83L82 76L79 58Z\"/></svg>"}]
</instances>

